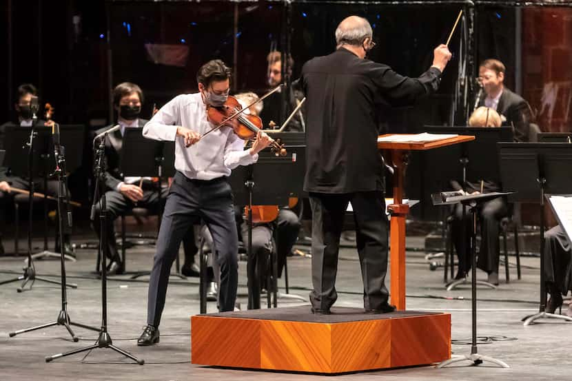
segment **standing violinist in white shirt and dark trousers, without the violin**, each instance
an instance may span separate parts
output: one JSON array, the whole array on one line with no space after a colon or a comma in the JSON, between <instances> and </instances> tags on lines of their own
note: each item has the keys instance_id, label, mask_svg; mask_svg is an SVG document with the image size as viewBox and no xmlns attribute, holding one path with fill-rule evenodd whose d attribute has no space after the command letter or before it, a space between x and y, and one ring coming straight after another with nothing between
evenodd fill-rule
<instances>
[{"instance_id":1,"label":"standing violinist in white shirt and dark trousers, without the violin","mask_svg":"<svg viewBox=\"0 0 572 381\"><path fill-rule=\"evenodd\" d=\"M211 122L212 109L216 112L231 100L230 76L231 70L223 61L205 63L196 74L198 92L176 96L143 127L143 136L147 138L175 141L176 174L161 220L149 281L147 326L137 340L138 345L159 342L170 268L183 236L200 218L212 234L215 260L221 267L218 309L234 309L238 234L227 177L238 165L255 163L258 152L270 145L272 139L259 131L252 147L244 150L243 141L232 127L219 127Z\"/></svg>"}]
</instances>

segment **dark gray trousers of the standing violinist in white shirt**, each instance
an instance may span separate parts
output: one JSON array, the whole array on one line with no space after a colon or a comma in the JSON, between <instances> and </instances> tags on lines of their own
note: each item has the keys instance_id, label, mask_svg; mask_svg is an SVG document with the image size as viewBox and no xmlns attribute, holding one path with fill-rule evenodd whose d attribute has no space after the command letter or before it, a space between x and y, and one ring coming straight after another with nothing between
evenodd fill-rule
<instances>
[{"instance_id":1,"label":"dark gray trousers of the standing violinist in white shirt","mask_svg":"<svg viewBox=\"0 0 572 381\"><path fill-rule=\"evenodd\" d=\"M191 180L180 172L173 178L157 240L147 298L147 324L159 327L172 262L183 236L203 218L212 234L221 268L218 309L232 311L238 287L238 236L234 222L232 189L226 178Z\"/></svg>"}]
</instances>

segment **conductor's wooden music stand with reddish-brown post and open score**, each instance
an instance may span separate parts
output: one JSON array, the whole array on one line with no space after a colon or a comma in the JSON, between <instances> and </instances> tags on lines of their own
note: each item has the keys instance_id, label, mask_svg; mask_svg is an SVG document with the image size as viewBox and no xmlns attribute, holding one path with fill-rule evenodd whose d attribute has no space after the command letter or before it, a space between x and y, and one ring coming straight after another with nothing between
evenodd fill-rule
<instances>
[{"instance_id":1,"label":"conductor's wooden music stand with reddish-brown post and open score","mask_svg":"<svg viewBox=\"0 0 572 381\"><path fill-rule=\"evenodd\" d=\"M409 205L403 203L403 180L409 151L425 151L433 148L446 147L458 143L472 141L475 136L458 135L431 141L413 141L416 134L385 134L378 138L395 136L396 141L378 141L379 150L389 150L394 174L394 203L388 205L391 214L391 304L398 310L405 310L405 218L409 214ZM404 136L411 136L412 141L404 141Z\"/></svg>"}]
</instances>

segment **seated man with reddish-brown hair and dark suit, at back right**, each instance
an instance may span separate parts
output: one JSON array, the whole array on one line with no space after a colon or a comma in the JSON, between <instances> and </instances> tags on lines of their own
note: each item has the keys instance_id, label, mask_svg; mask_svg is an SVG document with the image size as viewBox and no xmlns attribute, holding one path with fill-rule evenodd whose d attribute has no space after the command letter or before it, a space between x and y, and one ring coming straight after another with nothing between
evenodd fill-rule
<instances>
[{"instance_id":1,"label":"seated man with reddish-brown hair and dark suit, at back right","mask_svg":"<svg viewBox=\"0 0 572 381\"><path fill-rule=\"evenodd\" d=\"M497 59L482 61L479 67L479 81L484 94L479 99L479 106L496 110L503 119L503 125L513 127L514 139L518 142L529 141L531 109L527 101L511 92L504 85L506 68Z\"/></svg>"}]
</instances>

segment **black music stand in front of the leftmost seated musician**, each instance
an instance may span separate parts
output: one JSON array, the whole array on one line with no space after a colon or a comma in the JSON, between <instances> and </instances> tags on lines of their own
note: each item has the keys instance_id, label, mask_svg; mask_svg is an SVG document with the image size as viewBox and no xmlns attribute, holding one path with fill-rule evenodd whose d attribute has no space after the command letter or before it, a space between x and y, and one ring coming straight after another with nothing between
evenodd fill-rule
<instances>
[{"instance_id":1,"label":"black music stand in front of the leftmost seated musician","mask_svg":"<svg viewBox=\"0 0 572 381\"><path fill-rule=\"evenodd\" d=\"M84 126L83 125L60 125L61 145L65 147L65 161L68 172L74 172L81 166L83 157ZM10 172L29 178L28 165L21 158L28 154L26 143L29 140L31 127L20 125L6 126L6 157L8 161L6 167L10 167ZM42 178L44 187L44 235L43 251L33 254L32 259L53 257L59 258L60 254L48 250L48 177L54 169L54 143L52 140L52 129L48 126L36 126L34 136L34 154L32 160L32 178ZM31 229L31 227L30 227ZM62 231L59 234L63 234ZM60 248L60 250L63 248ZM65 259L75 262L72 256L64 255Z\"/></svg>"}]
</instances>

